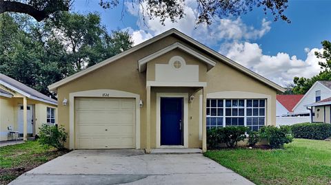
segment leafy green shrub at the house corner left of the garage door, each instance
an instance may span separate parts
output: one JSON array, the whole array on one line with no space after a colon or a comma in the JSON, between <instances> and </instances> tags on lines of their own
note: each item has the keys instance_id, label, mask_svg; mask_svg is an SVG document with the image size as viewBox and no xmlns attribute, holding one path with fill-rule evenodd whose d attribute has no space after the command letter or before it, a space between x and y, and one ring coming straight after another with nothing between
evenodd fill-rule
<instances>
[{"instance_id":1,"label":"leafy green shrub at the house corner left of the garage door","mask_svg":"<svg viewBox=\"0 0 331 185\"><path fill-rule=\"evenodd\" d=\"M67 140L68 133L62 125L50 125L43 124L41 128L39 128L39 139L38 142L44 146L52 146L55 149L63 150L64 143Z\"/></svg>"}]
</instances>

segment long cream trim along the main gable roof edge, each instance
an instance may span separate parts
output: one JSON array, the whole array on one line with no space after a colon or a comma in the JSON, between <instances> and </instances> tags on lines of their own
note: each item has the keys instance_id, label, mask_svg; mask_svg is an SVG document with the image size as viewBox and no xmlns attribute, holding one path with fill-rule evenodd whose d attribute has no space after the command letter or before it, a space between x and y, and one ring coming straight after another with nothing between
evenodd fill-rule
<instances>
[{"instance_id":1,"label":"long cream trim along the main gable roof edge","mask_svg":"<svg viewBox=\"0 0 331 185\"><path fill-rule=\"evenodd\" d=\"M132 52L135 52L135 51L141 49L142 47L145 47L146 45L150 45L151 43L159 41L160 39L163 39L165 36L169 36L171 34L175 34L175 35L179 36L181 39L188 41L188 43L198 47L200 50L204 50L205 52L210 53L212 56L219 58L219 60L223 61L224 63L227 63L228 65L230 65L236 69L239 69L241 72L248 74L249 76L252 76L253 78L256 78L257 80L260 80L262 83L265 83L266 85L268 85L274 89L277 89L278 91L281 91L281 92L285 91L285 89L283 87L281 87L280 85L277 85L276 83L273 83L272 81L268 80L267 78L264 78L263 76L255 73L255 72L252 72L250 69L243 67L239 63L232 61L230 58L227 58L227 57L219 54L219 52L216 52L216 51L210 49L209 47L206 47L205 45L192 39L190 36L187 36L174 28L172 28L166 32L163 32L162 34L154 36L152 39L149 39L148 41L145 41L139 45L136 45L136 46L130 48L129 50L121 52L121 54L112 56L111 58L108 58L105 61L102 61L101 63L97 63L96 65L93 65L92 67L88 67L87 69L84 69L81 72L73 74L72 76L68 76L67 78L64 78L63 80L59 80L58 82L53 83L52 85L49 85L48 89L50 89L52 91L57 91L57 87L64 85L64 84L70 82L71 80L79 78L80 76L88 74L88 73L94 71L95 69L98 69L99 67L108 65L109 63L112 63L113 61L116 61L117 59L119 59L123 56L131 54Z\"/></svg>"}]
</instances>

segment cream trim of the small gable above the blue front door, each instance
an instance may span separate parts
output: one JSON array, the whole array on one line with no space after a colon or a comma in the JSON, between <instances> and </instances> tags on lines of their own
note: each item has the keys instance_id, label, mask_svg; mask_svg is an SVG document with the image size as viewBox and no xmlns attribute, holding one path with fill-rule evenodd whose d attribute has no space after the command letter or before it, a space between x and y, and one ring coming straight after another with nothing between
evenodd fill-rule
<instances>
[{"instance_id":1,"label":"cream trim of the small gable above the blue front door","mask_svg":"<svg viewBox=\"0 0 331 185\"><path fill-rule=\"evenodd\" d=\"M208 65L208 70L216 65L216 62L214 62L214 61L210 60L209 58L192 50L190 47L187 47L181 43L173 43L172 45L169 45L168 47L164 47L162 50L159 50L157 52L154 52L153 54L150 54L144 58L141 58L138 61L139 72L144 72L146 70L146 66L149 61L152 61L154 58L157 58L157 57L159 57L165 53L168 53L174 49L177 49L177 48L183 50L184 52L188 52L188 54L191 54L192 56L195 56L196 58L199 58L201 61L205 62Z\"/></svg>"}]
</instances>

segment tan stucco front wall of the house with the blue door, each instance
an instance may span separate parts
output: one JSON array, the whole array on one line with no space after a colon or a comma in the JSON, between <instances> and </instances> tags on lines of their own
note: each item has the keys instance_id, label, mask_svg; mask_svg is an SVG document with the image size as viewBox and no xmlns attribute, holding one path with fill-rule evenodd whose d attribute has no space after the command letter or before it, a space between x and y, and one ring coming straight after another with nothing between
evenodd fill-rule
<instances>
[{"instance_id":1,"label":"tan stucco front wall of the house with the blue door","mask_svg":"<svg viewBox=\"0 0 331 185\"><path fill-rule=\"evenodd\" d=\"M105 65L89 74L81 76L75 80L61 85L58 87L58 98L59 102L62 102L64 98L69 99L69 94L77 91L87 91L92 89L116 89L119 91L127 91L134 94L139 94L141 100L146 103L146 72L139 73L137 70L137 61L149 54L157 52L158 50L163 49L172 43L181 42L179 39L174 36L168 36L160 41L152 43L146 47L141 48L140 50L119 58L117 61L113 61L108 65ZM203 54L203 52L200 52ZM271 110L270 116L271 122L268 124L275 124L276 117L276 90L271 87L264 85L263 83L257 81L254 78L251 78L238 69L234 69L229 65L225 65L219 61L217 65L207 72L207 68L201 65L200 61L189 56L186 53L182 53L180 50L174 50L168 54L159 57L159 60L152 61L153 63L165 63L168 62L168 58L174 54L180 55L187 59L189 63L198 64L199 63L199 81L206 81L208 87L206 91L208 93L217 92L217 91L243 91L243 92L252 92L258 94L266 94L271 96L270 102ZM205 55L208 58L213 59L208 55ZM154 67L148 65L148 80L154 80ZM201 67L200 67L201 66ZM200 74L207 72L205 75ZM157 91L183 91L185 88L152 88L151 90L151 146L152 148L156 146L156 93ZM197 89L195 89L197 90ZM189 105L189 147L201 147L201 141L199 140L199 94L201 91L194 91L192 88L186 88L185 92L197 94L194 95L196 100ZM235 98L235 97L234 97ZM66 127L66 131L69 132L70 116L69 116L69 104L74 102L68 102L67 106L59 104L58 113L59 113L59 123L63 124ZM141 123L141 148L146 148L146 104L140 109L140 123ZM192 119L190 119L192 116ZM69 140L74 138L69 138L66 146L69 146Z\"/></svg>"}]
</instances>

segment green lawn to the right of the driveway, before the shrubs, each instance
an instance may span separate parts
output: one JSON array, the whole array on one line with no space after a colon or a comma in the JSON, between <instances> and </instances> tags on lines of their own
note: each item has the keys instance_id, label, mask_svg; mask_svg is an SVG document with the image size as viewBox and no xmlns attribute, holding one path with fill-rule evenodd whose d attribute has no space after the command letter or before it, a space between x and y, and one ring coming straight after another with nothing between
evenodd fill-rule
<instances>
[{"instance_id":1,"label":"green lawn to the right of the driveway, before the shrubs","mask_svg":"<svg viewBox=\"0 0 331 185\"><path fill-rule=\"evenodd\" d=\"M294 139L285 149L222 149L205 156L255 184L331 184L331 142Z\"/></svg>"}]
</instances>

